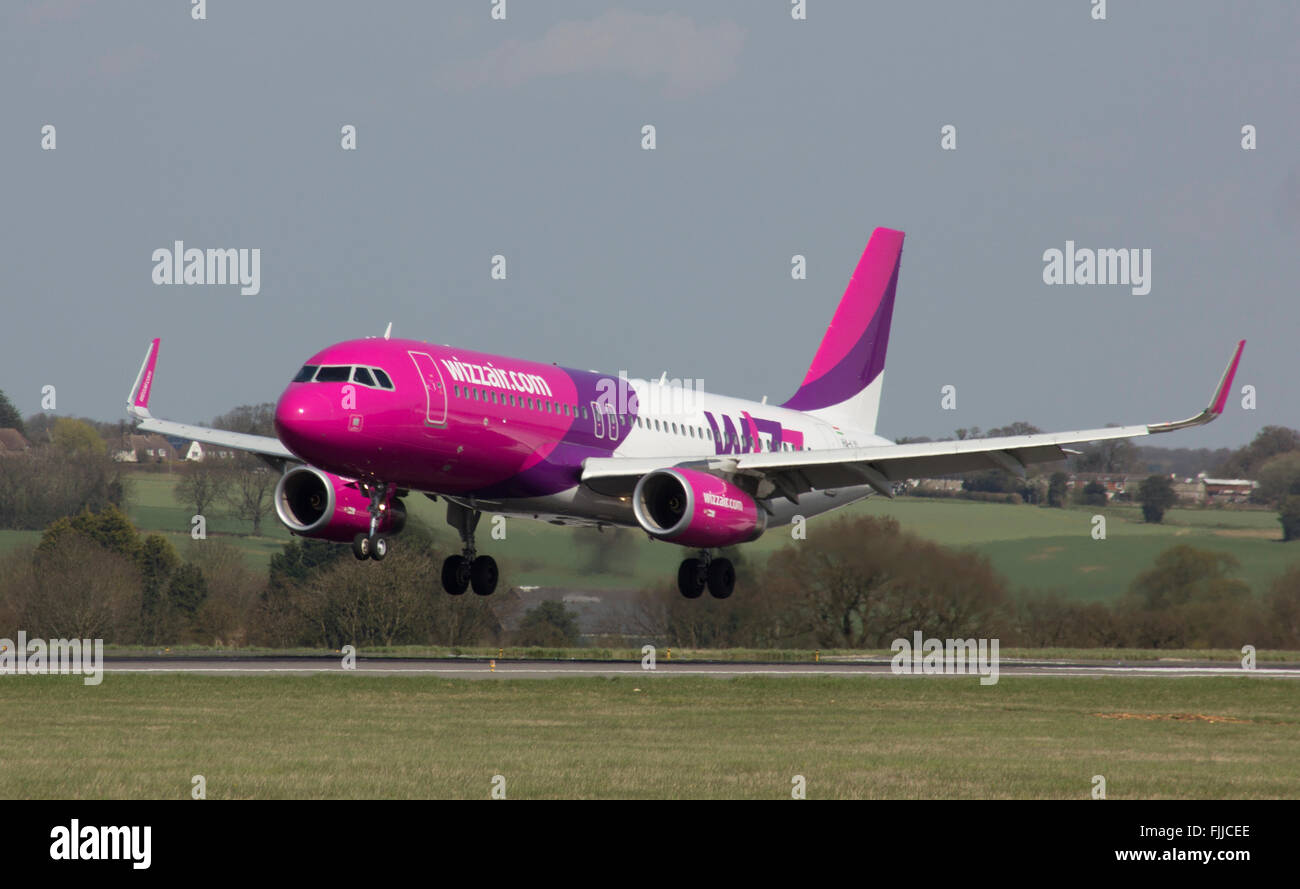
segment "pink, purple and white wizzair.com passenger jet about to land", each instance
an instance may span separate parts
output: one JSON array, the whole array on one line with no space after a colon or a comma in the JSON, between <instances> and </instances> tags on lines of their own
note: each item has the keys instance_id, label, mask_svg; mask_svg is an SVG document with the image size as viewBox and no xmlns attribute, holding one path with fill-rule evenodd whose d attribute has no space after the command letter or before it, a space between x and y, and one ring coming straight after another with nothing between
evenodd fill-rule
<instances>
[{"instance_id":1,"label":"pink, purple and white wizzair.com passenger jet about to land","mask_svg":"<svg viewBox=\"0 0 1300 889\"><path fill-rule=\"evenodd\" d=\"M312 355L276 404L276 437L207 429L150 413L160 341L127 399L144 432L255 454L281 473L280 520L296 535L351 542L384 559L412 491L446 503L462 551L442 586L490 595L497 563L478 552L484 512L558 525L625 526L693 550L686 598L736 585L714 551L854 503L893 498L907 478L998 468L1020 476L1069 444L1210 422L1223 412L1245 341L1209 407L1187 420L1078 432L896 444L876 413L904 233L876 229L802 383L780 406L629 381L415 339L351 339Z\"/></svg>"}]
</instances>

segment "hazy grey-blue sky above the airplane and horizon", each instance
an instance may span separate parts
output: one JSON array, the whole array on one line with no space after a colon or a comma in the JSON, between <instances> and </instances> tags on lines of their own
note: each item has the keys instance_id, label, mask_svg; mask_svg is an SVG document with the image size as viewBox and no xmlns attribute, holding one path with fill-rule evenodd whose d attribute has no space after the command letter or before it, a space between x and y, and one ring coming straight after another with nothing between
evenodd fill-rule
<instances>
[{"instance_id":1,"label":"hazy grey-blue sky above the airplane and horizon","mask_svg":"<svg viewBox=\"0 0 1300 889\"><path fill-rule=\"evenodd\" d=\"M116 420L161 337L155 415L207 421L391 321L780 402L888 226L887 437L1180 419L1238 339L1152 443L1300 426L1300 4L494 5L4 4L0 389ZM176 240L260 289L155 283ZM1067 240L1149 292L1045 283Z\"/></svg>"}]
</instances>

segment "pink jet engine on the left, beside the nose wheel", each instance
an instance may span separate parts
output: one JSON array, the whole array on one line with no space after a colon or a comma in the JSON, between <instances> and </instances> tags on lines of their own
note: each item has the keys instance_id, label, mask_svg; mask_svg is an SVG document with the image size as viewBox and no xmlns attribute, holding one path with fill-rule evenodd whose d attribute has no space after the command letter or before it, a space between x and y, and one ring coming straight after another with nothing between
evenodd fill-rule
<instances>
[{"instance_id":1,"label":"pink jet engine on the left, beside the nose wheel","mask_svg":"<svg viewBox=\"0 0 1300 889\"><path fill-rule=\"evenodd\" d=\"M276 515L299 537L347 542L370 530L370 498L356 482L316 467L294 467L276 485ZM396 534L406 525L406 507L394 499L380 530Z\"/></svg>"}]
</instances>

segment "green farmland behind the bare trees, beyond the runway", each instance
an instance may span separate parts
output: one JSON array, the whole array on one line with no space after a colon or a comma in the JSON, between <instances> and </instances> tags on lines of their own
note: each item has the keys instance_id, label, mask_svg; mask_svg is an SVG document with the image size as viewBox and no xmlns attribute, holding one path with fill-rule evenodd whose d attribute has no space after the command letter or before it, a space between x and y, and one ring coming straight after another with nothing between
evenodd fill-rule
<instances>
[{"instance_id":1,"label":"green farmland behind the bare trees, beyond the runway","mask_svg":"<svg viewBox=\"0 0 1300 889\"><path fill-rule=\"evenodd\" d=\"M146 532L165 534L178 548L190 541L191 511L172 496L176 476L133 472L131 520ZM443 520L443 506L413 495L407 498L413 517L422 521L446 547L459 547ZM1264 511L1171 509L1161 525L1141 521L1138 507L1106 507L1106 539L1092 538L1093 508L1045 509L1032 506L978 503L956 499L872 498L846 507L836 516L893 516L910 532L948 546L970 547L987 555L1013 590L1060 591L1075 600L1113 600L1132 580L1149 568L1169 546L1190 546L1230 552L1242 563L1236 576L1256 593L1288 565L1300 561L1300 545L1280 542L1277 516ZM822 522L809 522L815 538ZM289 533L272 516L263 522L263 534L248 535L248 522L216 513L208 533L238 546L250 567L263 568ZM575 532L526 519L510 520L506 541L481 541L502 567L503 582L512 585L560 586L575 590L641 589L671 581L681 550L668 543L651 543L634 534L630 556L612 572L584 571L585 552L575 542ZM34 542L36 532L0 532L0 552L22 542ZM760 559L790 542L789 530L776 528L745 552ZM400 551L400 538L394 545Z\"/></svg>"}]
</instances>

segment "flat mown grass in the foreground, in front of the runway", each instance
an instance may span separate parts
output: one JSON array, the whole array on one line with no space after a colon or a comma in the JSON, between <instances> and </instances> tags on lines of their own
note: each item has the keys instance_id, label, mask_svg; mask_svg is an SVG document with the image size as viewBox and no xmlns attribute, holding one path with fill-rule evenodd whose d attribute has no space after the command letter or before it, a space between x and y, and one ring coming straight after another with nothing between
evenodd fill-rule
<instances>
[{"instance_id":1,"label":"flat mown grass in the foreground, in front of the runway","mask_svg":"<svg viewBox=\"0 0 1300 889\"><path fill-rule=\"evenodd\" d=\"M108 676L0 684L0 795L1300 795L1284 680Z\"/></svg>"}]
</instances>

